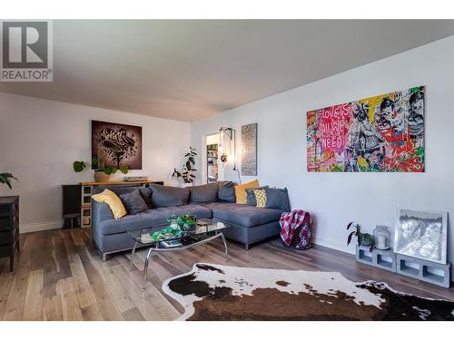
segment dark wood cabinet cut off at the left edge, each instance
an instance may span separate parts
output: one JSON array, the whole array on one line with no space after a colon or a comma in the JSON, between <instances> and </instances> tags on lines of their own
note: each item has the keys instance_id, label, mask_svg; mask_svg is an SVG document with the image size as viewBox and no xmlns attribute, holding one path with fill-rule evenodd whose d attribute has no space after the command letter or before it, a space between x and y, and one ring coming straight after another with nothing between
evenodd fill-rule
<instances>
[{"instance_id":1,"label":"dark wood cabinet cut off at the left edge","mask_svg":"<svg viewBox=\"0 0 454 340\"><path fill-rule=\"evenodd\" d=\"M19 251L19 196L0 197L0 257L9 257L9 270Z\"/></svg>"}]
</instances>

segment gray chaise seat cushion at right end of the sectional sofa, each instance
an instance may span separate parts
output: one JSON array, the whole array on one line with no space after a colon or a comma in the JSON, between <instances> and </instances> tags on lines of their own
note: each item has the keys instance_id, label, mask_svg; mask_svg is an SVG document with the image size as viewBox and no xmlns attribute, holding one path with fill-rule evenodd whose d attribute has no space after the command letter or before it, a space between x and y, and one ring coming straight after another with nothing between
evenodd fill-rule
<instances>
[{"instance_id":1,"label":"gray chaise seat cushion at right end of the sectional sofa","mask_svg":"<svg viewBox=\"0 0 454 340\"><path fill-rule=\"evenodd\" d=\"M255 227L281 219L283 210L265 209L236 203L215 202L205 206L212 209L212 218L242 227Z\"/></svg>"}]
</instances>

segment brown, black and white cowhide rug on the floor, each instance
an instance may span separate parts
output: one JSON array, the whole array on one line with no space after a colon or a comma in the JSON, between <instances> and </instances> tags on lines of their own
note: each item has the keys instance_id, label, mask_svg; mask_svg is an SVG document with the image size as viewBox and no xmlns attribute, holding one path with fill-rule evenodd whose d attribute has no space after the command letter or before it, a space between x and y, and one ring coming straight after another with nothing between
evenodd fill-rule
<instances>
[{"instance_id":1,"label":"brown, black and white cowhide rug on the floor","mask_svg":"<svg viewBox=\"0 0 454 340\"><path fill-rule=\"evenodd\" d=\"M197 263L163 283L180 320L454 320L454 302L403 294L340 273Z\"/></svg>"}]
</instances>

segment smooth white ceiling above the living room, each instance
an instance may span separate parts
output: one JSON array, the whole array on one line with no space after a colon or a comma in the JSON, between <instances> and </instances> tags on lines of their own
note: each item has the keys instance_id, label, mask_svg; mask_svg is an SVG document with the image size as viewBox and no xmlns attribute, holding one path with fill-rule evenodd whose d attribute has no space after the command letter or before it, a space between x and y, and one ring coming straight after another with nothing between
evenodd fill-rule
<instances>
[{"instance_id":1,"label":"smooth white ceiling above the living room","mask_svg":"<svg viewBox=\"0 0 454 340\"><path fill-rule=\"evenodd\" d=\"M56 20L54 82L0 92L195 121L454 34L454 20Z\"/></svg>"}]
</instances>

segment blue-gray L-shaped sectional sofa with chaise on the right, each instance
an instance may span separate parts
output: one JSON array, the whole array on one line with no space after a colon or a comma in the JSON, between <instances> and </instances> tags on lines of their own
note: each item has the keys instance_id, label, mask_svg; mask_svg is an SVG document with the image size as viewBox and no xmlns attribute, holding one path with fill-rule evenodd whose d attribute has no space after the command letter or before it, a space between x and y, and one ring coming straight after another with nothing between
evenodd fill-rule
<instances>
[{"instance_id":1,"label":"blue-gray L-shaped sectional sofa with chaise on the right","mask_svg":"<svg viewBox=\"0 0 454 340\"><path fill-rule=\"evenodd\" d=\"M171 214L194 214L197 219L214 219L224 222L223 234L242 243L246 250L252 243L279 235L283 209L256 208L251 205L234 203L234 183L217 182L191 188L174 188L152 185L141 189L141 195L148 207L135 215L114 219L111 209L105 203L93 202L92 233L94 242L106 260L108 254L133 248L133 239L128 230L168 226ZM122 195L137 189L112 189ZM149 190L148 192L146 190ZM146 197L150 195L150 197Z\"/></svg>"}]
</instances>

